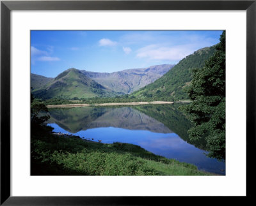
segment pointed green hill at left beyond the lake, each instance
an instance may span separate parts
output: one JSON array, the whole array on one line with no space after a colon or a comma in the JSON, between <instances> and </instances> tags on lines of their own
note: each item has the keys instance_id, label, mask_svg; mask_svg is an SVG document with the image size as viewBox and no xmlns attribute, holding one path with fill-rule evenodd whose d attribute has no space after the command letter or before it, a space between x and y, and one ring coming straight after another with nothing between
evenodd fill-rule
<instances>
[{"instance_id":1,"label":"pointed green hill at left beyond the lake","mask_svg":"<svg viewBox=\"0 0 256 206\"><path fill-rule=\"evenodd\" d=\"M106 89L81 71L74 68L63 71L47 84L32 91L36 98L93 98L114 96L115 92Z\"/></svg>"}]
</instances>

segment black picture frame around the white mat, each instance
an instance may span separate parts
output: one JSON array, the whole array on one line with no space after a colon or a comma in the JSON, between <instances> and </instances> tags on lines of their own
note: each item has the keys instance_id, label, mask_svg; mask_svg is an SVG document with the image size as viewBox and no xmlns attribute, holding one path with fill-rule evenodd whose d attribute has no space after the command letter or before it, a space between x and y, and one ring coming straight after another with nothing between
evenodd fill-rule
<instances>
[{"instance_id":1,"label":"black picture frame around the white mat","mask_svg":"<svg viewBox=\"0 0 256 206\"><path fill-rule=\"evenodd\" d=\"M241 197L241 201L244 201L244 198L253 198L252 186L255 183L255 174L252 165L255 163L253 154L256 145L256 0L1 1L1 205L151 205L152 200L157 200L157 205L165 205L164 202L170 201L170 198L179 200L184 198L184 196L10 196L10 12L12 10L246 10L246 196ZM214 201L213 197L209 196L209 198Z\"/></svg>"}]
</instances>

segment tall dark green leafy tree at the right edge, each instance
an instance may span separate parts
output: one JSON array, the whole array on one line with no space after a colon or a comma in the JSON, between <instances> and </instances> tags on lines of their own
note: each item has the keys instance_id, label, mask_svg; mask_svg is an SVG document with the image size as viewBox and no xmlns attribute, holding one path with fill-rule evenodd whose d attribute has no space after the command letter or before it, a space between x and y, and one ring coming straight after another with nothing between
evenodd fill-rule
<instances>
[{"instance_id":1,"label":"tall dark green leafy tree at the right edge","mask_svg":"<svg viewBox=\"0 0 256 206\"><path fill-rule=\"evenodd\" d=\"M225 31L221 34L216 52L201 69L193 70L188 88L189 105L182 110L191 114L195 126L189 129L189 138L207 142L208 156L225 160Z\"/></svg>"}]
</instances>

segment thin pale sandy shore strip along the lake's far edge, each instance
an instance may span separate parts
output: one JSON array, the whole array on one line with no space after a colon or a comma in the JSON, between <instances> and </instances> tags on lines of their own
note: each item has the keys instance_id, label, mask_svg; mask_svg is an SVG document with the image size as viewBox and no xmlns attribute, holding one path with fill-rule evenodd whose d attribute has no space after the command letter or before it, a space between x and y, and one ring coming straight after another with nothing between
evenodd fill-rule
<instances>
[{"instance_id":1,"label":"thin pale sandy shore strip along the lake's far edge","mask_svg":"<svg viewBox=\"0 0 256 206\"><path fill-rule=\"evenodd\" d=\"M73 105L47 105L47 108L58 108L58 107L88 107L88 106L122 106L122 105L163 105L173 104L172 101L140 101L140 102L120 102L120 103L101 103L101 104L73 104Z\"/></svg>"}]
</instances>

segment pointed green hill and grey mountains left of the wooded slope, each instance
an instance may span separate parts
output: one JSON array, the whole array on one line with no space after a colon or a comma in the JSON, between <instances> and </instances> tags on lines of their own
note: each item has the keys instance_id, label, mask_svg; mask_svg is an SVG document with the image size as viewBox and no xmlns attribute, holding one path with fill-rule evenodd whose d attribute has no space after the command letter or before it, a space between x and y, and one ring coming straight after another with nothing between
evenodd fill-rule
<instances>
[{"instance_id":1,"label":"pointed green hill and grey mountains left of the wooded slope","mask_svg":"<svg viewBox=\"0 0 256 206\"><path fill-rule=\"evenodd\" d=\"M56 78L31 73L32 93L38 98L92 98L129 94L160 78L173 64L100 73L70 68Z\"/></svg>"}]
</instances>

